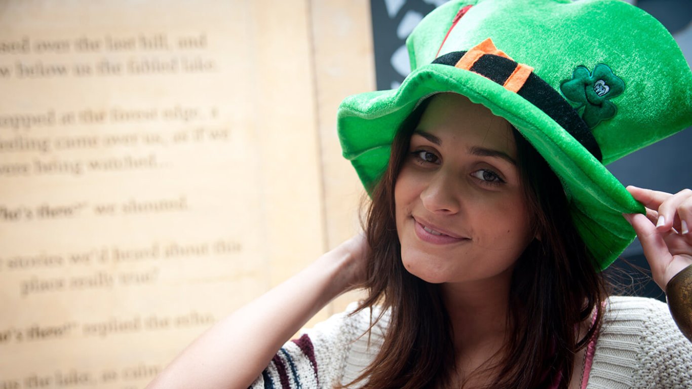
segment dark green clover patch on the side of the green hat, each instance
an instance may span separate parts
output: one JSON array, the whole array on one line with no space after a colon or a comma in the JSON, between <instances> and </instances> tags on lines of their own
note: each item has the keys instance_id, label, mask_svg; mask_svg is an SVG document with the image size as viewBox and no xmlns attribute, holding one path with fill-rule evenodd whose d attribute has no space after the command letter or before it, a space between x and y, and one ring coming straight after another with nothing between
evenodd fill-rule
<instances>
[{"instance_id":1,"label":"dark green clover patch on the side of the green hat","mask_svg":"<svg viewBox=\"0 0 692 389\"><path fill-rule=\"evenodd\" d=\"M619 96L624 89L625 82L605 64L596 65L593 73L585 66L577 66L572 80L560 84L563 95L579 104L575 109L579 111L583 107L581 118L589 128L615 116L617 106L609 100Z\"/></svg>"}]
</instances>

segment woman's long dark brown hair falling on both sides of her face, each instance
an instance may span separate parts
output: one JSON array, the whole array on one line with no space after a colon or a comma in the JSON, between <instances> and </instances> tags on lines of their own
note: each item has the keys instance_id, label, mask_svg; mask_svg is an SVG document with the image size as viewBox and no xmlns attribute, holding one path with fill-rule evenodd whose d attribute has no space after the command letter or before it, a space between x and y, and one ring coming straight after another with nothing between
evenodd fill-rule
<instances>
[{"instance_id":1,"label":"woman's long dark brown hair falling on both sides of her face","mask_svg":"<svg viewBox=\"0 0 692 389\"><path fill-rule=\"evenodd\" d=\"M364 222L371 247L365 283L369 295L359 309L380 305L383 312L390 311L390 325L379 354L347 387L444 388L457 374L452 328L439 286L406 271L395 219L394 184L429 101L399 128L388 168L372 188ZM559 388L566 389L574 355L601 323L605 282L574 228L558 177L516 129L513 134L531 228L540 241L527 246L513 269L502 357L461 379L490 373L495 379L486 388L516 389L547 388L564 377ZM578 339L580 323L594 310L594 325Z\"/></svg>"}]
</instances>

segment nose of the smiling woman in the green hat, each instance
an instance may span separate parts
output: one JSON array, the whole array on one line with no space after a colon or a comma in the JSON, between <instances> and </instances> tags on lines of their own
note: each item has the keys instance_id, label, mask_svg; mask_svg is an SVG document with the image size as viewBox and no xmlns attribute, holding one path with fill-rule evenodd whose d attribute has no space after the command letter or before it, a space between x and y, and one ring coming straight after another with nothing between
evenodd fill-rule
<instances>
[{"instance_id":1,"label":"nose of the smiling woman in the green hat","mask_svg":"<svg viewBox=\"0 0 692 389\"><path fill-rule=\"evenodd\" d=\"M459 177L445 170L438 170L421 192L423 206L430 212L455 214L459 212Z\"/></svg>"}]
</instances>

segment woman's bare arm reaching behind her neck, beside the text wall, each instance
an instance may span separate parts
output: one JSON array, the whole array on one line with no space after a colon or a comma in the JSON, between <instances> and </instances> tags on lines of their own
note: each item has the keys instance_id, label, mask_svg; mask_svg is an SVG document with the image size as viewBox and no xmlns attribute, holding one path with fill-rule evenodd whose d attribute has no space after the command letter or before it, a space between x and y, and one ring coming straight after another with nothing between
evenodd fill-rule
<instances>
[{"instance_id":1,"label":"woman's bare arm reaching behind her neck, beside the text wall","mask_svg":"<svg viewBox=\"0 0 692 389\"><path fill-rule=\"evenodd\" d=\"M367 243L353 237L219 321L149 383L156 388L246 389L309 318L365 278Z\"/></svg>"}]
</instances>

